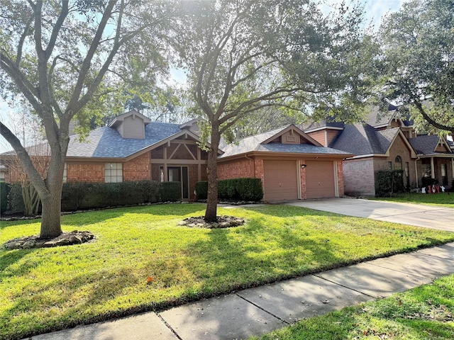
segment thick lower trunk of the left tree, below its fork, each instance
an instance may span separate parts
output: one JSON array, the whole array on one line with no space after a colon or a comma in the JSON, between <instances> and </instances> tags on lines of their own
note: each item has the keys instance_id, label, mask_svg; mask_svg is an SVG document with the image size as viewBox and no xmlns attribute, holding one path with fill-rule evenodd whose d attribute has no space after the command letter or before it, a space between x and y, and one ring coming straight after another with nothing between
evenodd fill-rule
<instances>
[{"instance_id":1,"label":"thick lower trunk of the left tree, below its fork","mask_svg":"<svg viewBox=\"0 0 454 340\"><path fill-rule=\"evenodd\" d=\"M40 229L41 239L53 239L62 234L60 215L62 211L61 191L60 195L46 195L41 198L42 220Z\"/></svg>"}]
</instances>

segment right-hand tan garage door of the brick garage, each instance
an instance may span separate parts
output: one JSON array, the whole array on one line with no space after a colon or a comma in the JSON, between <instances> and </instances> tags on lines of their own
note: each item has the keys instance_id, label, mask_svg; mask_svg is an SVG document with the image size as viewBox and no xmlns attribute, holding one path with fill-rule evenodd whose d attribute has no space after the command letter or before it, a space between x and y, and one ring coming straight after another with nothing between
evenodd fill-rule
<instances>
[{"instance_id":1,"label":"right-hand tan garage door of the brick garage","mask_svg":"<svg viewBox=\"0 0 454 340\"><path fill-rule=\"evenodd\" d=\"M332 161L306 162L306 198L336 197Z\"/></svg>"}]
</instances>

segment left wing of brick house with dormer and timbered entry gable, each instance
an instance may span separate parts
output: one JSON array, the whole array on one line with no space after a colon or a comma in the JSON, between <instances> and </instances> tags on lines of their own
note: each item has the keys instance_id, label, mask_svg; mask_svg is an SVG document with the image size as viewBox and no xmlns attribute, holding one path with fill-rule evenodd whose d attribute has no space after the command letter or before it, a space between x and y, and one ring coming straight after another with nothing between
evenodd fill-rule
<instances>
[{"instance_id":1,"label":"left wing of brick house with dormer and timbered entry gable","mask_svg":"<svg viewBox=\"0 0 454 340\"><path fill-rule=\"evenodd\" d=\"M179 181L182 198L194 199L195 183L206 180L208 154L199 149L196 120L178 125L151 122L135 111L118 116L80 142L72 136L65 182ZM7 164L14 152L1 154ZM9 181L16 181L10 174Z\"/></svg>"}]
</instances>

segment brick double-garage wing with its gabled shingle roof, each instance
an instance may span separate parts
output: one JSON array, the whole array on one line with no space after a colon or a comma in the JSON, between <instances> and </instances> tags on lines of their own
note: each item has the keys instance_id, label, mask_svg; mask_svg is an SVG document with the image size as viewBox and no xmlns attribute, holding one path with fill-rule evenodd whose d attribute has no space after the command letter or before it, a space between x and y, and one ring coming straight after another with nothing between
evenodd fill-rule
<instances>
[{"instance_id":1,"label":"brick double-garage wing with its gabled shingle roof","mask_svg":"<svg viewBox=\"0 0 454 340\"><path fill-rule=\"evenodd\" d=\"M267 201L343 196L342 161L353 156L323 147L295 125L246 137L223 152L218 178L262 179Z\"/></svg>"}]
</instances>

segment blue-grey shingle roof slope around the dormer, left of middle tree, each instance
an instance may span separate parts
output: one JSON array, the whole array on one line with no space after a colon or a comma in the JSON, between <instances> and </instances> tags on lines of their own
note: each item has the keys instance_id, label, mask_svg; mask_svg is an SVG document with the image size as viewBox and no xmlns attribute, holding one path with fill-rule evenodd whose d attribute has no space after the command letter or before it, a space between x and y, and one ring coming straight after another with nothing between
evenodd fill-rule
<instances>
[{"instance_id":1,"label":"blue-grey shingle roof slope around the dormer, left of middle tree","mask_svg":"<svg viewBox=\"0 0 454 340\"><path fill-rule=\"evenodd\" d=\"M152 122L145 125L145 139L135 140L121 137L114 128L99 128L84 142L72 136L67 157L124 158L181 131L178 124Z\"/></svg>"}]
</instances>

